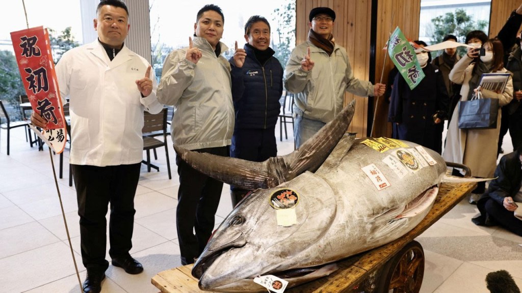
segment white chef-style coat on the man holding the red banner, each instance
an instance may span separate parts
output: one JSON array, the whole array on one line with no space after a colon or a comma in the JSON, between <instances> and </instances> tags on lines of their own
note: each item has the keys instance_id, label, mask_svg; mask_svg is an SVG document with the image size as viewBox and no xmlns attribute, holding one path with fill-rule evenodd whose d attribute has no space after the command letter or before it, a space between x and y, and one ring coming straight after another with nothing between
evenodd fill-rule
<instances>
[{"instance_id":1,"label":"white chef-style coat on the man holding the red banner","mask_svg":"<svg viewBox=\"0 0 522 293\"><path fill-rule=\"evenodd\" d=\"M136 80L149 63L125 45L111 61L102 44L67 51L56 65L62 102L69 96L71 150L76 165L115 166L141 162L143 112L159 113L154 70L152 93L141 97Z\"/></svg>"}]
</instances>

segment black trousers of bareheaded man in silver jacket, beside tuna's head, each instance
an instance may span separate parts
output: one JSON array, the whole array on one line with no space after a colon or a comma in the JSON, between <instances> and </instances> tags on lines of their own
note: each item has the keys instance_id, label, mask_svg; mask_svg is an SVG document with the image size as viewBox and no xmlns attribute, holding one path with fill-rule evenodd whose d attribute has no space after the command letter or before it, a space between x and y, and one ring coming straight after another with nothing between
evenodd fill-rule
<instances>
[{"instance_id":1,"label":"black trousers of bareheaded man in silver jacket, beside tuna's head","mask_svg":"<svg viewBox=\"0 0 522 293\"><path fill-rule=\"evenodd\" d=\"M195 150L228 156L228 147ZM194 263L212 235L223 182L198 172L176 155L180 187L177 191L176 227L181 263ZM196 231L194 235L193 230Z\"/></svg>"}]
</instances>

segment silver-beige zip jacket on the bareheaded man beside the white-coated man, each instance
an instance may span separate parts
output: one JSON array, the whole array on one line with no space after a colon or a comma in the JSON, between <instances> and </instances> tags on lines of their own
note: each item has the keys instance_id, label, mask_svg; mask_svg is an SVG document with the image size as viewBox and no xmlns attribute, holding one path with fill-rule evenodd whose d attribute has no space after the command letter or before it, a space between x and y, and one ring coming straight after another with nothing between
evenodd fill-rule
<instances>
[{"instance_id":1,"label":"silver-beige zip jacket on the bareheaded man beside the white-coated man","mask_svg":"<svg viewBox=\"0 0 522 293\"><path fill-rule=\"evenodd\" d=\"M228 60L212 50L204 38L193 37L201 51L194 64L185 58L188 47L174 50L165 59L157 95L173 105L172 141L188 150L230 145L234 107ZM219 43L221 53L228 47Z\"/></svg>"}]
</instances>

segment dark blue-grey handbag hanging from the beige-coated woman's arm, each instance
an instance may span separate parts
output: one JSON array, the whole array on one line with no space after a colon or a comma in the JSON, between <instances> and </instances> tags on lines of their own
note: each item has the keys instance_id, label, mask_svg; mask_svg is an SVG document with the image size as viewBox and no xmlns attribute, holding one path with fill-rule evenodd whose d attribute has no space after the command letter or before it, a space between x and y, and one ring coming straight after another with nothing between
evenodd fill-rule
<instances>
[{"instance_id":1,"label":"dark blue-grey handbag hanging from the beige-coated woman's arm","mask_svg":"<svg viewBox=\"0 0 522 293\"><path fill-rule=\"evenodd\" d=\"M483 99L480 91L471 100L458 104L458 128L490 129L496 128L499 116L499 99Z\"/></svg>"}]
</instances>

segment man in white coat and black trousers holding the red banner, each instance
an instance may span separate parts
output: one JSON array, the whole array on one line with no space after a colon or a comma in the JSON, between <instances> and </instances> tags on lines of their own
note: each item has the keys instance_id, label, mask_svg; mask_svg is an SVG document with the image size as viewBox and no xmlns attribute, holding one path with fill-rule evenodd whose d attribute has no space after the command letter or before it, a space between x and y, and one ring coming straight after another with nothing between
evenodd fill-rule
<instances>
[{"instance_id":1,"label":"man in white coat and black trousers holding the red banner","mask_svg":"<svg viewBox=\"0 0 522 293\"><path fill-rule=\"evenodd\" d=\"M161 112L156 79L147 60L124 45L130 25L120 0L103 0L94 29L98 40L67 51L56 66L62 101L69 96L69 162L78 199L81 257L87 268L85 293L99 293L109 262L105 260L106 219L111 203L109 254L114 266L138 274L131 257L134 195L143 158L144 110ZM45 128L40 115L34 125Z\"/></svg>"}]
</instances>

